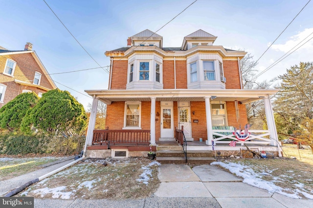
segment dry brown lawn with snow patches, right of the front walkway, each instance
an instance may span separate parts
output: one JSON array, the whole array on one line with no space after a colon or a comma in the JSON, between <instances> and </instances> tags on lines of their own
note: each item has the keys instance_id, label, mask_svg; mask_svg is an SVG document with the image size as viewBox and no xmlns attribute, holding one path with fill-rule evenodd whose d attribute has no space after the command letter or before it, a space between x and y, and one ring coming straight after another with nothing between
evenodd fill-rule
<instances>
[{"instance_id":1,"label":"dry brown lawn with snow patches, right of the front walkway","mask_svg":"<svg viewBox=\"0 0 313 208\"><path fill-rule=\"evenodd\" d=\"M240 167L240 171L235 174L246 175L247 180L253 178L256 187L258 187L257 183L266 184L276 189L276 192L292 198L313 199L313 154L311 149L306 146L305 150L298 151L296 145L284 145L283 150L285 157L279 159L229 158L223 163L230 167ZM294 157L296 159L292 159Z\"/></svg>"}]
</instances>

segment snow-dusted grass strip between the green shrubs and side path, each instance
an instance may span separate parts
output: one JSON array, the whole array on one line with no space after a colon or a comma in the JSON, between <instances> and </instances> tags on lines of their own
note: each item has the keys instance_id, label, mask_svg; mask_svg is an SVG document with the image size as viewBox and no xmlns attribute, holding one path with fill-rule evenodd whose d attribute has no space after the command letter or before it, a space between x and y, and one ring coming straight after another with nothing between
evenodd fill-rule
<instances>
[{"instance_id":1,"label":"snow-dusted grass strip between the green shrubs and side path","mask_svg":"<svg viewBox=\"0 0 313 208\"><path fill-rule=\"evenodd\" d=\"M41 169L40 165L59 159L58 157L0 158L0 180L4 181L34 170L39 170Z\"/></svg>"}]
</instances>

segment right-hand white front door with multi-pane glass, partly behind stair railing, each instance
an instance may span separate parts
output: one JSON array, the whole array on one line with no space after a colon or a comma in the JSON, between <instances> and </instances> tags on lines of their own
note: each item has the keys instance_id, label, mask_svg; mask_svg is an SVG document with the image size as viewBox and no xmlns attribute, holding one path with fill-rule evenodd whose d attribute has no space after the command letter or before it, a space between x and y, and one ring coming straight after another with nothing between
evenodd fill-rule
<instances>
[{"instance_id":1,"label":"right-hand white front door with multi-pane glass, partly behind stair railing","mask_svg":"<svg viewBox=\"0 0 313 208\"><path fill-rule=\"evenodd\" d=\"M184 135L187 141L193 141L191 135L190 107L179 107L179 129L184 127Z\"/></svg>"}]
</instances>

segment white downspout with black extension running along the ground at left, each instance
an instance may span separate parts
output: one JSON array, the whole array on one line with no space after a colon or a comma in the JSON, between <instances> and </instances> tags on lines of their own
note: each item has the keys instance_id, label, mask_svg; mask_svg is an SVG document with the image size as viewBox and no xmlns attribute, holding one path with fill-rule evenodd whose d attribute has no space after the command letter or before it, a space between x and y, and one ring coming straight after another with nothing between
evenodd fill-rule
<instances>
[{"instance_id":1,"label":"white downspout with black extension running along the ground at left","mask_svg":"<svg viewBox=\"0 0 313 208\"><path fill-rule=\"evenodd\" d=\"M88 157L86 157L86 150L87 150L87 139L85 140L85 148L84 148L84 154L81 158L79 158L78 160L74 160L73 162L71 163L68 163L67 165L65 166L62 166L61 168L58 168L56 170L53 170L51 172L48 172L47 174L43 175L43 176L40 176L34 180L31 180L31 181L28 181L27 183L23 184L22 186L16 188L16 189L13 189L11 190L9 193L5 194L4 197L10 197L10 196L14 196L15 194L21 192L22 190L26 189L27 187L29 187L30 185L34 184L34 183L37 183L39 181L42 181L44 180L45 178L57 173L57 172L60 172L61 170L64 170L66 168L68 168L69 166L72 166L74 165L75 163L81 161L81 160L84 160L84 159L87 159Z\"/></svg>"}]
</instances>

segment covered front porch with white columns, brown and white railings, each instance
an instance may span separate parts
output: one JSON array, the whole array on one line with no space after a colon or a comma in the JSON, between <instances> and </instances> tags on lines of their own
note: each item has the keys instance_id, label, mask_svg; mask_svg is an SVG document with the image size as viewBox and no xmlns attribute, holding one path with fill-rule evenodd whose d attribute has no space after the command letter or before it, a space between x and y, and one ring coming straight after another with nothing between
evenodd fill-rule
<instances>
[{"instance_id":1,"label":"covered front porch with white columns, brown and white railings","mask_svg":"<svg viewBox=\"0 0 313 208\"><path fill-rule=\"evenodd\" d=\"M278 144L278 137L274 122L274 116L271 107L270 95L273 95L277 92L277 90L88 90L86 91L89 95L93 96L92 109L89 120L89 127L87 133L87 145L91 146L141 146L149 148L149 144L152 144L154 147L156 143L160 141L160 126L162 128L163 118L159 117L159 111L162 109L159 103L172 102L174 105L172 109L174 113L176 108L178 109L178 113L176 116L177 123L172 124L172 126L176 127L178 130L185 124L181 124L181 119L179 118L180 112L179 109L182 108L181 103L190 103L190 112L196 115L191 116L202 116L203 122L198 126L197 123L201 119L191 119L188 118L188 122L191 125L191 130L193 135L198 135L198 137L192 138L194 141L199 141L200 137L203 137L203 149L213 151L215 150L225 150L225 151L233 151L240 150L245 147L244 144L248 144L249 146L256 147L268 147L276 149L280 154L280 148ZM244 141L237 139L233 132L233 129L214 129L214 125L212 123L212 109L211 103L217 102L225 102L229 106L235 106L234 109L229 108L230 111L234 111L233 113L237 116L236 120L228 121L229 126L233 126L239 130L240 115L243 114L243 110L238 108L238 104L244 106L246 103L253 102L256 100L263 99L264 108L267 117L267 130L253 130L249 129L250 135ZM98 100L106 103L107 105L112 105L114 103L122 103L122 102L142 102L145 103L145 113L149 110L149 113L144 114L141 113L141 126L138 128L127 128L125 126L117 127L117 126L108 126L107 130L94 130L95 117L96 117L96 109ZM147 103L149 105L147 105ZM203 107L201 104L203 103ZM156 104L158 105L156 108ZM143 105L143 104L142 104ZM237 107L236 107L237 106ZM196 110L193 110L196 109ZM123 108L124 111L124 108ZM125 108L126 111L126 108ZM142 111L142 110L141 110ZM200 113L199 113L200 112ZM201 113L203 112L203 113ZM124 112L123 112L124 113ZM173 113L173 114L174 114ZM120 112L121 114L121 112ZM201 114L201 115L199 115ZM190 115L189 115L190 116ZM188 116L187 116L188 117ZM230 116L228 115L228 120ZM124 118L120 116L121 119ZM149 119L149 122L147 122ZM245 118L246 119L246 118ZM146 122L145 124L142 124ZM188 125L188 122L186 124ZM125 122L124 122L125 123ZM149 126L146 124L150 123ZM125 124L124 124L125 125ZM144 128L143 126L146 125ZM203 125L203 126L201 126ZM201 127L201 128L199 128ZM202 128L203 127L203 128ZM242 124L242 129L244 128L244 124ZM238 132L237 130L237 132ZM102 131L102 132L101 132ZM114 134L113 134L114 132ZM111 133L111 134L110 134ZM134 134L135 133L135 134ZM173 130L174 138L176 136L176 131ZM149 136L147 136L149 134ZM161 133L162 134L162 133ZM199 136L200 135L200 136ZM237 141L234 147L230 147L229 143L231 140ZM187 146L189 149L192 146ZM197 149L194 147L194 149ZM199 149L199 148L198 148ZM281 156L281 154L280 154Z\"/></svg>"}]
</instances>

